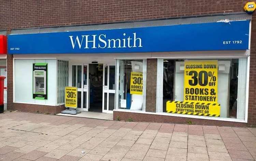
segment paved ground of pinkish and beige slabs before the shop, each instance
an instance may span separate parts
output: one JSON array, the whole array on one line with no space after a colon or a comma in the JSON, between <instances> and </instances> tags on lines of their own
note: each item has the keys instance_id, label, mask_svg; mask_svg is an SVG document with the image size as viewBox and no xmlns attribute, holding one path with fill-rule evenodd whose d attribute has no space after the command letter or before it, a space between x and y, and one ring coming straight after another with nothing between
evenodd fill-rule
<instances>
[{"instance_id":1,"label":"paved ground of pinkish and beige slabs before the shop","mask_svg":"<svg viewBox=\"0 0 256 161\"><path fill-rule=\"evenodd\" d=\"M250 161L256 129L0 114L0 161Z\"/></svg>"}]
</instances>

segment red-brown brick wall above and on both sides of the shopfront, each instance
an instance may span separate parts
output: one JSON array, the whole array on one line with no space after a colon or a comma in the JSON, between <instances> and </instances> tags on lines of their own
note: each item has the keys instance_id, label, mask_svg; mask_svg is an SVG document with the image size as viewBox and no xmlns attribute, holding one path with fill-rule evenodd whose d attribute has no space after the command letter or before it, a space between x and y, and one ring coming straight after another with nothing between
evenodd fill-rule
<instances>
[{"instance_id":1,"label":"red-brown brick wall above and on both sides of the shopfront","mask_svg":"<svg viewBox=\"0 0 256 161\"><path fill-rule=\"evenodd\" d=\"M244 12L245 0L1 0L0 30ZM256 125L256 13L252 20L248 125ZM7 57L8 108L12 56Z\"/></svg>"}]
</instances>

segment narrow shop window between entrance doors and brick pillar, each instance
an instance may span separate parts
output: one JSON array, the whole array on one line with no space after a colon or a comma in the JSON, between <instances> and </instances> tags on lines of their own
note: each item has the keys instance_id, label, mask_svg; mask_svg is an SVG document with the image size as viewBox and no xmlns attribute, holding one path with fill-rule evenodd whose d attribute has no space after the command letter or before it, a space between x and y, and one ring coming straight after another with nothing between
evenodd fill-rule
<instances>
[{"instance_id":1,"label":"narrow shop window between entrance doors and brick pillar","mask_svg":"<svg viewBox=\"0 0 256 161\"><path fill-rule=\"evenodd\" d=\"M146 60L117 60L116 106L145 111ZM112 99L114 101L114 99ZM114 108L114 107L111 107Z\"/></svg>"}]
</instances>

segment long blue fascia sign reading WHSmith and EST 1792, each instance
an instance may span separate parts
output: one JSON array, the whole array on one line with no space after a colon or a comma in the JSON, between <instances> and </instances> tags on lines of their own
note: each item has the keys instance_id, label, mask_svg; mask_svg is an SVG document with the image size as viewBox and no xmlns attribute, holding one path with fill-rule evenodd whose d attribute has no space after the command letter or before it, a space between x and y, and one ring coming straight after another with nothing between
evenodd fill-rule
<instances>
[{"instance_id":1,"label":"long blue fascia sign reading WHSmith and EST 1792","mask_svg":"<svg viewBox=\"0 0 256 161\"><path fill-rule=\"evenodd\" d=\"M250 20L8 35L8 54L88 54L248 49Z\"/></svg>"}]
</instances>

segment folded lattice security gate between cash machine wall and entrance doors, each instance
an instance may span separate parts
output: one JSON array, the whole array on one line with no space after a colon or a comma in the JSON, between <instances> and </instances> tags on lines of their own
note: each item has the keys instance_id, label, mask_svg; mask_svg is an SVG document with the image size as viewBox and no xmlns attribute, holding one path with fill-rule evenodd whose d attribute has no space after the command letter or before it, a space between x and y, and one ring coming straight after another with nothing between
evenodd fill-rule
<instances>
[{"instance_id":1,"label":"folded lattice security gate between cash machine wall and entrance doors","mask_svg":"<svg viewBox=\"0 0 256 161\"><path fill-rule=\"evenodd\" d=\"M69 61L57 60L57 103L65 102L65 87L69 83Z\"/></svg>"}]
</instances>

